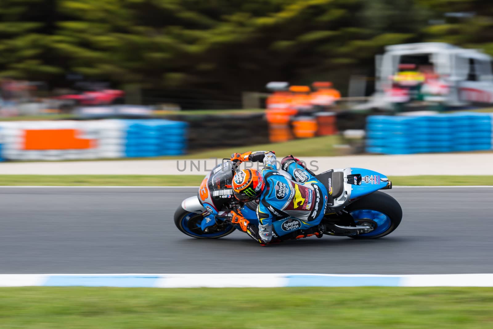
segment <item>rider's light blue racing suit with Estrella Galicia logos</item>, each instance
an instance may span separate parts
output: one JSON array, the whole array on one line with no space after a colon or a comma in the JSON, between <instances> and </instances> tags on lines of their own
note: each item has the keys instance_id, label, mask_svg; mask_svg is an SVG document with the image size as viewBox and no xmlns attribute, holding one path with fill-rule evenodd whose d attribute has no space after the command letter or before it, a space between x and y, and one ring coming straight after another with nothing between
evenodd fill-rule
<instances>
[{"instance_id":1,"label":"rider's light blue racing suit with Estrella Galicia logos","mask_svg":"<svg viewBox=\"0 0 493 329\"><path fill-rule=\"evenodd\" d=\"M278 219L295 218L301 221L292 230L309 229L320 223L325 213L327 189L295 160L283 160L282 169L293 179L288 179L277 171L276 156L272 152L252 153L252 161L262 161L264 187L257 207L259 235L264 242L269 242L272 235L282 236L290 233L289 224L284 229L274 230L272 222ZM255 156L256 155L256 156ZM285 158L286 159L286 158ZM296 221L299 223L298 221ZM284 225L284 224L283 224ZM276 225L277 226L277 225Z\"/></svg>"}]
</instances>

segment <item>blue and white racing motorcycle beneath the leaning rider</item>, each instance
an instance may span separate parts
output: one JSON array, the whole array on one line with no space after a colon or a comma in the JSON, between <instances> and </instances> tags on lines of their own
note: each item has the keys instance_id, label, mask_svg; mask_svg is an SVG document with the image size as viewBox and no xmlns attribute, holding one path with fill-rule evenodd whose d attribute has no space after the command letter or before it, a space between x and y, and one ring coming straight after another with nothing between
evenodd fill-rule
<instances>
[{"instance_id":1,"label":"blue and white racing motorcycle beneath the leaning rider","mask_svg":"<svg viewBox=\"0 0 493 329\"><path fill-rule=\"evenodd\" d=\"M238 164L229 159L223 161L206 175L197 195L183 200L176 210L175 224L184 234L199 239L215 239L231 234L236 229L228 217L233 209L240 209L250 223L258 225L258 203L241 203L233 195L231 182ZM292 179L289 173L283 170L278 172ZM345 168L328 170L315 177L329 191L325 215L320 224L304 231L300 229L299 219L275 220L273 240L312 235L321 237L323 234L376 239L391 233L401 222L399 203L379 191L392 188L392 182L385 175L363 168ZM314 234L315 231L318 233Z\"/></svg>"}]
</instances>

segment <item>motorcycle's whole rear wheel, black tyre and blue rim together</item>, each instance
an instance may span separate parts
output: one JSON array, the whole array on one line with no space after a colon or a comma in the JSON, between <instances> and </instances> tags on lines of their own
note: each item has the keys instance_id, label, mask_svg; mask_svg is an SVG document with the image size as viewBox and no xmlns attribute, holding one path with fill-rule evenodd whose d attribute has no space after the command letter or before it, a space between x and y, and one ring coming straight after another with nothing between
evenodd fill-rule
<instances>
[{"instance_id":1,"label":"motorcycle's whole rear wheel, black tyre and blue rim together","mask_svg":"<svg viewBox=\"0 0 493 329\"><path fill-rule=\"evenodd\" d=\"M352 235L353 239L377 239L394 231L402 220L399 202L387 193L376 191L346 207L358 225L371 225L369 233Z\"/></svg>"}]
</instances>

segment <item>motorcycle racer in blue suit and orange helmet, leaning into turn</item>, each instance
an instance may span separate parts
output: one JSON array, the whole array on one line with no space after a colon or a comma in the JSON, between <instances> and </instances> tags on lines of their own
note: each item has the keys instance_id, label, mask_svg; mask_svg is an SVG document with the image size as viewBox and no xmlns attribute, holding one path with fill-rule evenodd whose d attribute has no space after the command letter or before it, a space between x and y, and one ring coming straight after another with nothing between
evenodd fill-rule
<instances>
[{"instance_id":1,"label":"motorcycle racer in blue suit and orange helmet, leaning into turn","mask_svg":"<svg viewBox=\"0 0 493 329\"><path fill-rule=\"evenodd\" d=\"M324 215L327 189L300 160L290 155L281 161L282 170L288 172L292 179L286 178L277 171L276 154L273 151L233 153L231 161L264 164L262 172L254 169L237 171L232 183L238 200L242 202L258 200L258 230L238 210L230 212L233 223L240 224L248 235L262 245L271 242L273 234L280 236L281 233L286 233L273 232L272 222L282 218L301 220L300 227L287 227L288 232L290 229L293 231L303 229L305 232L313 232L317 237L321 237L317 225ZM305 235L296 238L298 237Z\"/></svg>"}]
</instances>

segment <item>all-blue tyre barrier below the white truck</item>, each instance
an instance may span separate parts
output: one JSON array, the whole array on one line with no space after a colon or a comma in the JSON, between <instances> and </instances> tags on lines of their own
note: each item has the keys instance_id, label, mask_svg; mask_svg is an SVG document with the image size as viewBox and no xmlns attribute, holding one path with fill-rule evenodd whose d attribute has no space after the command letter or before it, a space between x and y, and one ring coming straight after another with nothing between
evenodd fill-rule
<instances>
[{"instance_id":1,"label":"all-blue tyre barrier below the white truck","mask_svg":"<svg viewBox=\"0 0 493 329\"><path fill-rule=\"evenodd\" d=\"M492 149L492 116L489 113L456 113L424 116L367 118L366 151L411 154Z\"/></svg>"}]
</instances>

